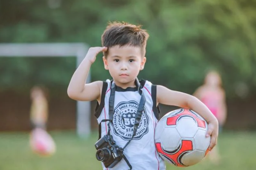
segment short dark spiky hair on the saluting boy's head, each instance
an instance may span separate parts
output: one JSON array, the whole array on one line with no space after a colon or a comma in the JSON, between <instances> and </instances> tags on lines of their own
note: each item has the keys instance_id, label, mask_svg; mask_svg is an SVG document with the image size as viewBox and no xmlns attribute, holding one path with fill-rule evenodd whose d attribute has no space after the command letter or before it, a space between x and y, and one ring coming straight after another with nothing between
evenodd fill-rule
<instances>
[{"instance_id":1,"label":"short dark spiky hair on the saluting boy's head","mask_svg":"<svg viewBox=\"0 0 256 170\"><path fill-rule=\"evenodd\" d=\"M125 22L112 22L109 23L104 33L102 34L102 46L111 48L115 45L120 47L125 45L131 45L134 47L140 47L143 56L145 56L145 48L148 40L148 33L142 29L141 26ZM108 51L103 53L105 57L108 55Z\"/></svg>"}]
</instances>

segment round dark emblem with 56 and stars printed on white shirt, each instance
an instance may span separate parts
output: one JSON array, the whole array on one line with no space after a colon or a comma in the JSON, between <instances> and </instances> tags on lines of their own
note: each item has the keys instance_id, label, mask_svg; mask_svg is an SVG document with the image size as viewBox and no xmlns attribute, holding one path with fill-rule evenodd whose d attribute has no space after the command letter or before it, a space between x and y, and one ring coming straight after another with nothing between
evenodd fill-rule
<instances>
[{"instance_id":1,"label":"round dark emblem with 56 and stars printed on white shirt","mask_svg":"<svg viewBox=\"0 0 256 170\"><path fill-rule=\"evenodd\" d=\"M131 139L138 106L139 104L132 100L129 102L120 102L116 108L114 108L113 131L124 140ZM146 133L148 133L148 116L144 107L140 124L133 139L141 139Z\"/></svg>"}]
</instances>

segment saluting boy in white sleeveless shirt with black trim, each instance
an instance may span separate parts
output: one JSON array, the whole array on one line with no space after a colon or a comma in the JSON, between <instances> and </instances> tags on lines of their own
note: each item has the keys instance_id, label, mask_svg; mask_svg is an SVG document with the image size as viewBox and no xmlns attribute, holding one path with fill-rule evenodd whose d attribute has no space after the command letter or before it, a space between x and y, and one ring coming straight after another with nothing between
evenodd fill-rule
<instances>
[{"instance_id":1,"label":"saluting boy in white sleeveless shirt with black trim","mask_svg":"<svg viewBox=\"0 0 256 170\"><path fill-rule=\"evenodd\" d=\"M93 47L88 50L67 89L68 96L72 99L97 100L95 116L101 133L99 137L112 135L115 144L125 148L123 153L126 159L121 159L113 167L107 166L111 168L102 164L104 170L127 170L131 167L133 170L165 170L164 162L157 154L154 144L159 103L187 105L201 114L209 123L207 132L207 136L211 136L209 149L211 150L216 144L218 121L200 100L161 85L152 85L146 80L137 81L137 75L143 70L146 62L147 39L148 33L140 26L110 23L102 34L103 47ZM104 66L113 81L96 81L84 85L90 66L99 52L104 54ZM137 115L140 115L140 118ZM137 133L134 135L136 129ZM104 154L107 155L101 150L97 159L102 160Z\"/></svg>"}]
</instances>

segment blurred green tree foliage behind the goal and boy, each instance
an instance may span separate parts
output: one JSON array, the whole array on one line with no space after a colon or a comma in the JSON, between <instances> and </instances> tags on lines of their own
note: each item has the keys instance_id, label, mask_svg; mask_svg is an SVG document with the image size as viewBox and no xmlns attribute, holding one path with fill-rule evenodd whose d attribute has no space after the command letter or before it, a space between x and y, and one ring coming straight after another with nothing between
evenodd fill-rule
<instances>
[{"instance_id":1,"label":"blurred green tree foliage behind the goal and boy","mask_svg":"<svg viewBox=\"0 0 256 170\"><path fill-rule=\"evenodd\" d=\"M148 30L140 78L189 94L211 68L229 98L256 95L255 0L0 0L0 42L84 42L101 45L108 21ZM66 91L76 59L0 57L0 91L34 84ZM110 78L101 56L92 80ZM244 93L241 93L244 92Z\"/></svg>"}]
</instances>

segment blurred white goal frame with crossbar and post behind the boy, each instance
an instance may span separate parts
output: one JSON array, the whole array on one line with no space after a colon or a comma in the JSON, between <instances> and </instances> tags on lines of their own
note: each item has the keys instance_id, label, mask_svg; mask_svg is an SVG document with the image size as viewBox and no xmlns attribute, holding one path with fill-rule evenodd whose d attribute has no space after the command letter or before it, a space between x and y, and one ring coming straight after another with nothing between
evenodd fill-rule
<instances>
[{"instance_id":1,"label":"blurred white goal frame with crossbar and post behind the boy","mask_svg":"<svg viewBox=\"0 0 256 170\"><path fill-rule=\"evenodd\" d=\"M84 43L0 43L0 57L76 57L76 67L88 51ZM70 77L71 78L71 77ZM87 82L90 82L90 74ZM90 102L77 102L76 132L90 134Z\"/></svg>"}]
</instances>

